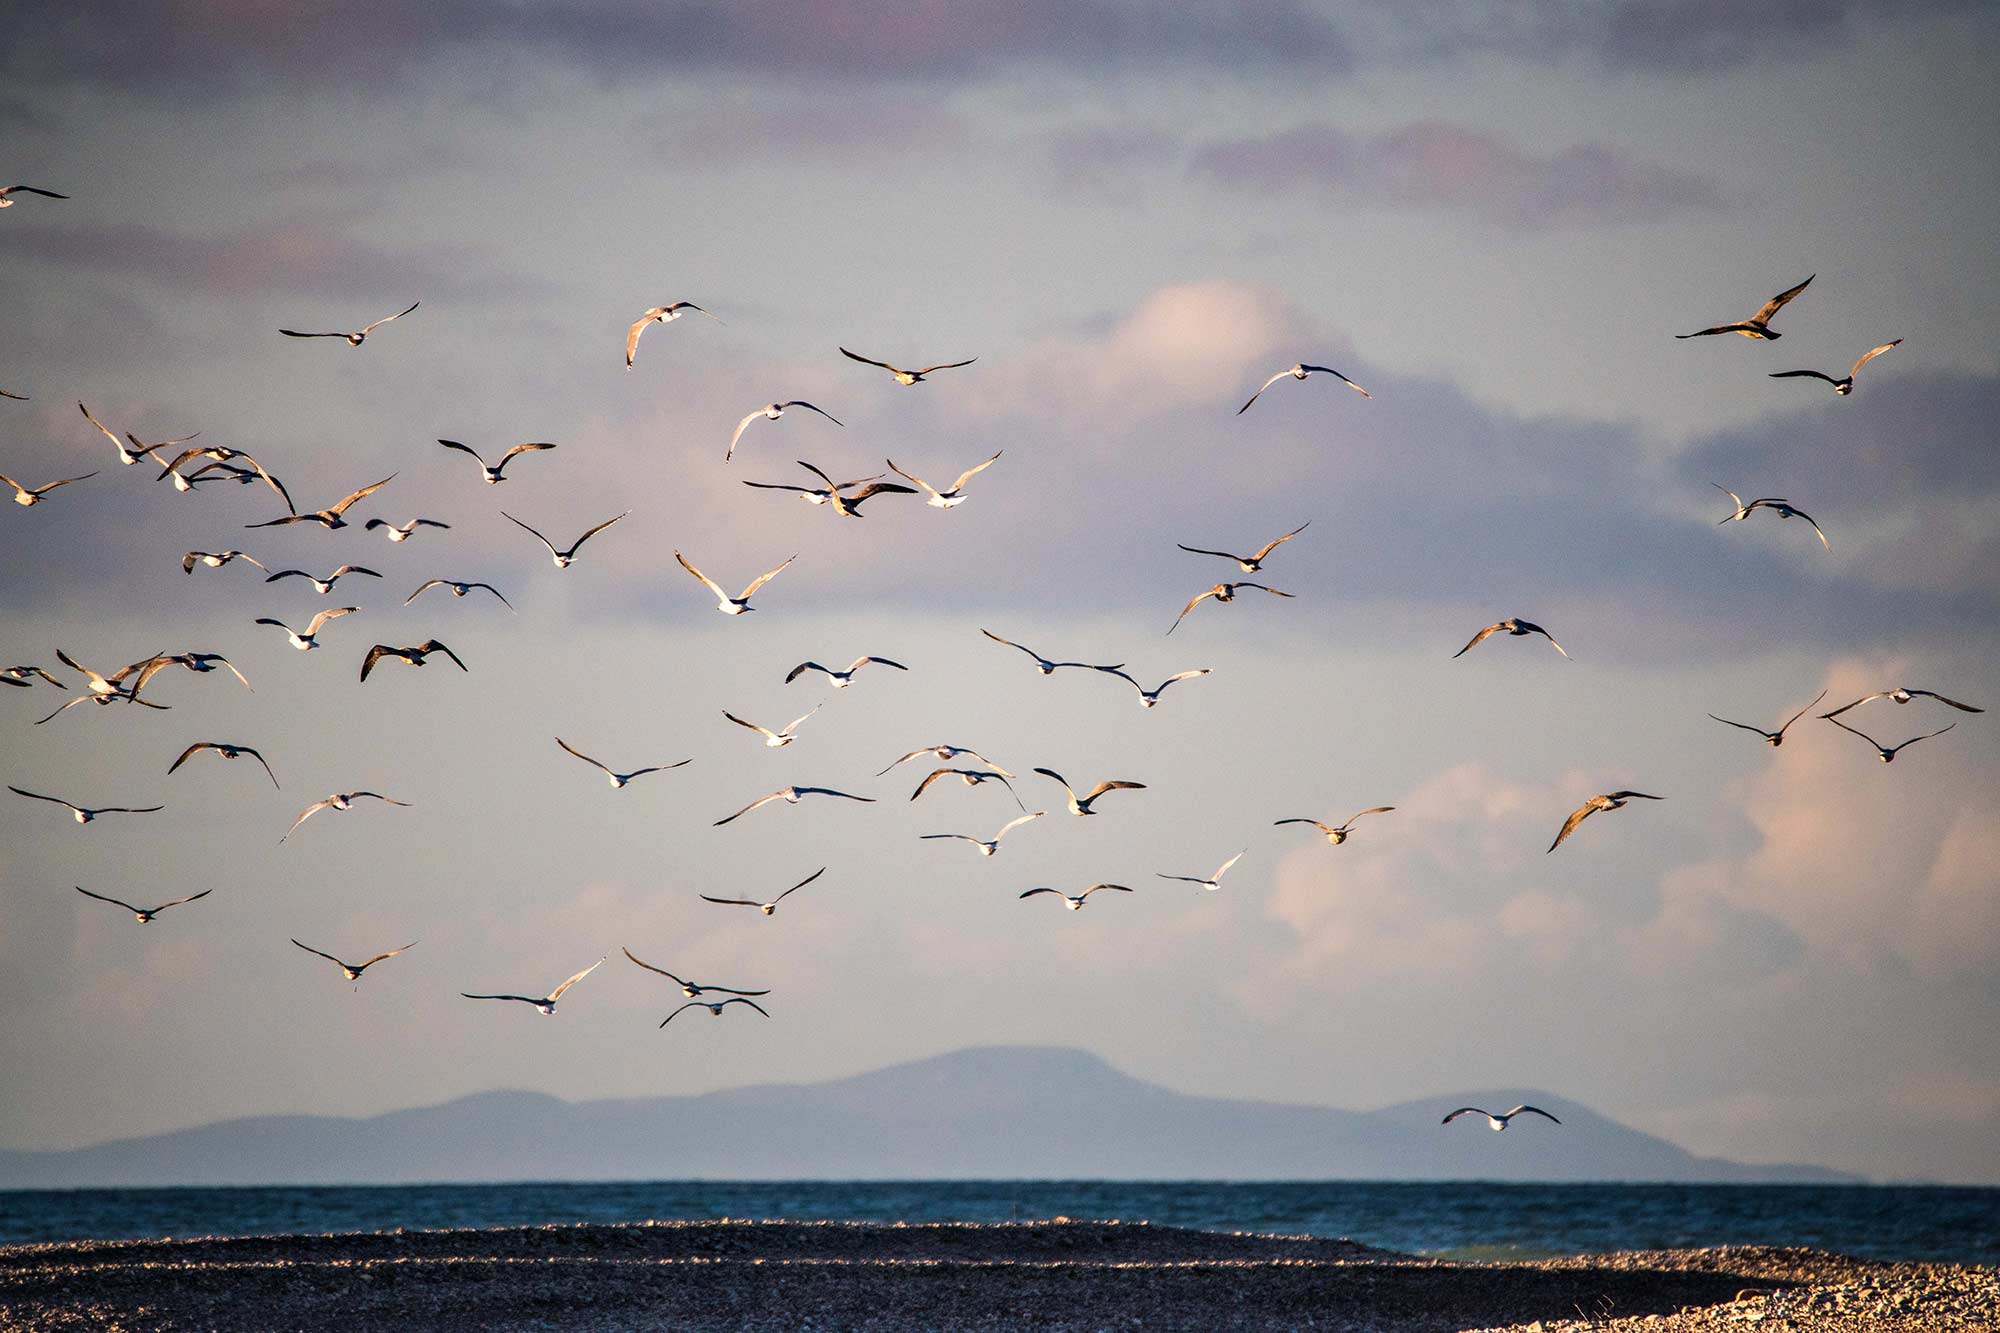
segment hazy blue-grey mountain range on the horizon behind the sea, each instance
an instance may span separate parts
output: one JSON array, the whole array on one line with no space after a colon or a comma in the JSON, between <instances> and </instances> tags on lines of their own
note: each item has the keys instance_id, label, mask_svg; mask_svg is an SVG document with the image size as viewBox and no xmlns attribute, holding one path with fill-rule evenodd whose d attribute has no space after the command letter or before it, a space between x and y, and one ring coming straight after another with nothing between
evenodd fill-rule
<instances>
[{"instance_id":1,"label":"hazy blue-grey mountain range on the horizon behind the sea","mask_svg":"<svg viewBox=\"0 0 2000 1333\"><path fill-rule=\"evenodd\" d=\"M1452 1107L1562 1117L1440 1127ZM60 1153L0 1189L562 1179L1848 1181L1692 1153L1540 1089L1382 1111L1188 1097L1096 1055L978 1047L832 1083L570 1103L498 1091L368 1119L260 1115Z\"/></svg>"}]
</instances>

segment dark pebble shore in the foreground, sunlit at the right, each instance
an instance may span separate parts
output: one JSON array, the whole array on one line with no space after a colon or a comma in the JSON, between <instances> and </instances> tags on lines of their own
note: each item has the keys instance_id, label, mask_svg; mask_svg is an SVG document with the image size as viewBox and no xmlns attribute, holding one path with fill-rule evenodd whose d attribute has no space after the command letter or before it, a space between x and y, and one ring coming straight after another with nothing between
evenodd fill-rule
<instances>
[{"instance_id":1,"label":"dark pebble shore in the foreground, sunlit at the right","mask_svg":"<svg viewBox=\"0 0 2000 1333\"><path fill-rule=\"evenodd\" d=\"M1144 1223L638 1223L0 1247L0 1329L2000 1329L2000 1269L1438 1263Z\"/></svg>"}]
</instances>

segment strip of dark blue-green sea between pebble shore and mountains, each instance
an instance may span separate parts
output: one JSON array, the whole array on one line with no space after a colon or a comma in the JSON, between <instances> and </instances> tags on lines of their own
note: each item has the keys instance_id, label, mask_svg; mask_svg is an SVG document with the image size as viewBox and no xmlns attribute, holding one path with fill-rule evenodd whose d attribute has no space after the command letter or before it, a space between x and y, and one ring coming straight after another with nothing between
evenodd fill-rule
<instances>
[{"instance_id":1,"label":"strip of dark blue-green sea between pebble shore and mountains","mask_svg":"<svg viewBox=\"0 0 2000 1333\"><path fill-rule=\"evenodd\" d=\"M0 1245L696 1219L1148 1221L1440 1259L1810 1245L2000 1265L2000 1189L1490 1181L556 1181L0 1191Z\"/></svg>"}]
</instances>

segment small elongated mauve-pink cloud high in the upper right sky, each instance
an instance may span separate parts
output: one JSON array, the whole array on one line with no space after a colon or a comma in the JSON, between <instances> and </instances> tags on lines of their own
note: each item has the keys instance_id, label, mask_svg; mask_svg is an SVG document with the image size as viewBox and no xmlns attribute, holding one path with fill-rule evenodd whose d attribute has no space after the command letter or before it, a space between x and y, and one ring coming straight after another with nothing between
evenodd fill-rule
<instances>
[{"instance_id":1,"label":"small elongated mauve-pink cloud high in the upper right sky","mask_svg":"<svg viewBox=\"0 0 2000 1333\"><path fill-rule=\"evenodd\" d=\"M1324 192L1504 226L1654 222L1716 208L1714 182L1604 144L1538 152L1490 130L1424 120L1376 134L1304 124L1196 150L1188 170L1262 192Z\"/></svg>"}]
</instances>

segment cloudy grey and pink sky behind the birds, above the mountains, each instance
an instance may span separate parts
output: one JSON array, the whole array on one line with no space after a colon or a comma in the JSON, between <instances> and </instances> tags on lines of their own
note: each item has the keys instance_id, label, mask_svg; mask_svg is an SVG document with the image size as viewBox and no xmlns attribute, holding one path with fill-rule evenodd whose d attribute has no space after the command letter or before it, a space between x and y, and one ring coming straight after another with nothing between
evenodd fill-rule
<instances>
[{"instance_id":1,"label":"cloudy grey and pink sky behind the birds, above the mountains","mask_svg":"<svg viewBox=\"0 0 2000 1333\"><path fill-rule=\"evenodd\" d=\"M30 6L0 50L0 1147L494 1087L570 1099L1074 1045L1206 1095L1548 1087L1708 1155L2000 1183L2000 16L1976 4ZM1778 342L1672 334L1814 274ZM624 328L694 300L720 322ZM278 328L360 328L360 348ZM1904 338L1850 398L1842 374ZM918 386L844 360L976 356ZM1338 380L1282 380L1294 362ZM804 398L842 426L744 412ZM118 432L252 452L178 494ZM470 458L520 440L488 488ZM862 520L744 480L902 468ZM892 478L894 480L894 478ZM1788 496L1718 524L1714 486ZM558 544L630 510L566 570ZM1300 522L1246 592L1188 596ZM276 568L378 568L330 598ZM732 588L722 618L674 562ZM490 580L516 606L426 578ZM1252 600L1254 598L1254 600ZM358 604L314 652L300 624ZM1540 638L1482 624L1524 616ZM1142 711L1042 654L1210 677ZM468 664L386 662L438 636ZM848 691L792 664L864 652ZM76 673L58 671L74 681ZM824 705L786 749L778 727ZM624 791L616 769L692 759ZM196 741L258 747L282 791ZM980 859L996 785L1052 813ZM1096 819L1032 777L1130 779ZM876 797L764 807L784 783ZM1592 817L1594 793L1666 797ZM298 811L372 789L408 809ZM1342 847L1284 817L1356 827ZM1204 893L1158 875L1208 875ZM776 917L712 907L826 875ZM1064 913L1018 893L1098 895ZM150 927L74 887L150 905ZM358 985L342 957L420 941ZM656 1031L618 949L770 987ZM556 1017L460 991L544 991ZM1418 1133L1418 1129L1412 1129ZM1324 1175L1302 1161L1298 1175Z\"/></svg>"}]
</instances>

